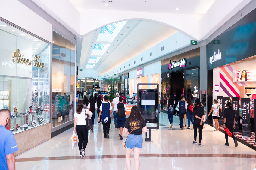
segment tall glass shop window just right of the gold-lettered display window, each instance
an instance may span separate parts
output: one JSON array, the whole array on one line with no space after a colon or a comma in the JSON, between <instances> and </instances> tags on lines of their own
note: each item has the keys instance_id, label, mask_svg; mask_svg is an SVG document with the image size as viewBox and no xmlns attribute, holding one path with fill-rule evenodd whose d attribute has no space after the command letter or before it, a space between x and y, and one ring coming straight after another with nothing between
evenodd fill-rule
<instances>
[{"instance_id":1,"label":"tall glass shop window just right of the gold-lettered display window","mask_svg":"<svg viewBox=\"0 0 256 170\"><path fill-rule=\"evenodd\" d=\"M75 45L53 31L52 34L52 127L74 119Z\"/></svg>"}]
</instances>

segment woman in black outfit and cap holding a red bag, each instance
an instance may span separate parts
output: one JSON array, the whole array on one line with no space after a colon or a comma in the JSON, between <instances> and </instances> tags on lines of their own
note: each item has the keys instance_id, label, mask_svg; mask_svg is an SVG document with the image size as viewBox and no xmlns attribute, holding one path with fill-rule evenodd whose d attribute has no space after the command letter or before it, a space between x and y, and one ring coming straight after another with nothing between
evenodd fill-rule
<instances>
[{"instance_id":1,"label":"woman in black outfit and cap holding a red bag","mask_svg":"<svg viewBox=\"0 0 256 170\"><path fill-rule=\"evenodd\" d=\"M232 103L228 102L227 103L227 109L224 110L224 123L223 123L223 127L228 128L228 130L232 133L231 138L234 139L235 142L235 147L238 146L237 144L237 140L235 139L235 136L233 134L233 129L236 128L236 119L235 119L235 111L232 109ZM226 146L229 146L229 142L228 142L228 134L225 131L225 138L226 138Z\"/></svg>"}]
</instances>

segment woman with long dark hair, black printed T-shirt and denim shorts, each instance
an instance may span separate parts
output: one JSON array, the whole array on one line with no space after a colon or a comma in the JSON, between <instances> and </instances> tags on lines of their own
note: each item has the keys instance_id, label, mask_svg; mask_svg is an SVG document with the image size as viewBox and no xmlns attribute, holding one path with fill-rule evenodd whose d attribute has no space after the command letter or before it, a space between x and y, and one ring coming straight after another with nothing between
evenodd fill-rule
<instances>
[{"instance_id":1,"label":"woman with long dark hair, black printed T-shirt and denim shorts","mask_svg":"<svg viewBox=\"0 0 256 170\"><path fill-rule=\"evenodd\" d=\"M133 106L131 109L130 116L126 119L124 124L124 132L129 132L126 140L126 149L125 149L125 160L127 170L131 169L131 160L130 156L133 151L134 161L135 161L135 170L139 170L139 154L142 148L142 132L147 132L147 125L145 120L142 118L139 108Z\"/></svg>"}]
</instances>

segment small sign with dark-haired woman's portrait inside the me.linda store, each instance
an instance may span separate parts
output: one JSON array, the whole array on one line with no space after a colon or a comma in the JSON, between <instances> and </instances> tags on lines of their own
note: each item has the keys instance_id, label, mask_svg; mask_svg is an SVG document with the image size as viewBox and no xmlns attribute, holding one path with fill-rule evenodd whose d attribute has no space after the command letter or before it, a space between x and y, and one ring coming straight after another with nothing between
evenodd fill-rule
<instances>
[{"instance_id":1,"label":"small sign with dark-haired woman's portrait inside the me.linda store","mask_svg":"<svg viewBox=\"0 0 256 170\"><path fill-rule=\"evenodd\" d=\"M256 82L256 70L233 70L234 82Z\"/></svg>"}]
</instances>

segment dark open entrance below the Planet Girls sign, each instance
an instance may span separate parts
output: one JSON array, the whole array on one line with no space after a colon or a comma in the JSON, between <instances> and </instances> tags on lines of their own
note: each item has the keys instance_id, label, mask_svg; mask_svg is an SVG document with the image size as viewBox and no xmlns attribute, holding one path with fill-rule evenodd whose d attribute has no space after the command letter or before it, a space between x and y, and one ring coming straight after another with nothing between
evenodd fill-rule
<instances>
[{"instance_id":1,"label":"dark open entrance below the Planet Girls sign","mask_svg":"<svg viewBox=\"0 0 256 170\"><path fill-rule=\"evenodd\" d=\"M170 73L170 95L174 96L174 100L180 100L180 96L184 95L184 71Z\"/></svg>"}]
</instances>

